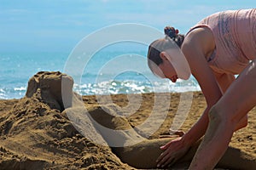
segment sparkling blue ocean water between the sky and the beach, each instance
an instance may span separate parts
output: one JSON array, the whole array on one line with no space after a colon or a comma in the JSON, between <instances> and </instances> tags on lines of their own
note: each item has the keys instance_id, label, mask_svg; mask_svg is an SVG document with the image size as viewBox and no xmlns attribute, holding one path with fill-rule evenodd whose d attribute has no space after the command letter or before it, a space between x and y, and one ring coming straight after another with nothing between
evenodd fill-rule
<instances>
[{"instance_id":1,"label":"sparkling blue ocean water between the sky and the beach","mask_svg":"<svg viewBox=\"0 0 256 170\"><path fill-rule=\"evenodd\" d=\"M190 77L188 81L178 80L176 83L154 77L148 69L146 53L146 50L128 54L127 51L102 51L90 55L89 62L84 64L84 70L79 71L79 74L75 71L76 66L71 67L74 71L71 76L75 80L73 90L81 95L200 90L194 77ZM70 65L68 63L70 54L64 52L0 53L0 99L24 97L29 78L38 71L72 72L70 69L67 70L67 66ZM84 54L83 57L88 56ZM125 60L120 60L123 59L122 57L125 57ZM140 61L138 62L137 59Z\"/></svg>"}]
</instances>

